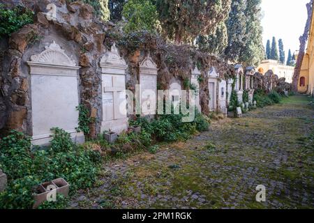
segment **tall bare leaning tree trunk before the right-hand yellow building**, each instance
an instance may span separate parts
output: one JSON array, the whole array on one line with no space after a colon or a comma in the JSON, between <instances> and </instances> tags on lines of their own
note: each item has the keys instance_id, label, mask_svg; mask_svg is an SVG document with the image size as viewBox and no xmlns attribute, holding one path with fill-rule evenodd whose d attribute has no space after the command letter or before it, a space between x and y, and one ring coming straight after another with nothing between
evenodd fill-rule
<instances>
[{"instance_id":1,"label":"tall bare leaning tree trunk before the right-hand yellow building","mask_svg":"<svg viewBox=\"0 0 314 223\"><path fill-rule=\"evenodd\" d=\"M298 91L298 83L299 83L302 61L304 59L304 54L305 54L306 41L308 40L308 35L311 28L311 20L312 20L312 13L313 13L313 0L311 0L309 3L306 4L306 8L308 9L308 20L306 21L304 33L299 38L300 40L299 56L297 59L297 64L294 69L294 75L292 78L292 91L294 92Z\"/></svg>"}]
</instances>

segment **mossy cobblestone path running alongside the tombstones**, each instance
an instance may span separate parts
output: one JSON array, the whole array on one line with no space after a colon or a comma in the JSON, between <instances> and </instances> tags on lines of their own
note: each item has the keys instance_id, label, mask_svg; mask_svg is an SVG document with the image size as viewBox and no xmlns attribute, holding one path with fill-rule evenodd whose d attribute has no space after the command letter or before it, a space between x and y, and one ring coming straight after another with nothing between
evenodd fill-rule
<instances>
[{"instance_id":1,"label":"mossy cobblestone path running alongside the tombstones","mask_svg":"<svg viewBox=\"0 0 314 223\"><path fill-rule=\"evenodd\" d=\"M314 208L314 110L305 96L106 164L70 208ZM311 136L312 132L312 136ZM266 201L255 201L257 185Z\"/></svg>"}]
</instances>

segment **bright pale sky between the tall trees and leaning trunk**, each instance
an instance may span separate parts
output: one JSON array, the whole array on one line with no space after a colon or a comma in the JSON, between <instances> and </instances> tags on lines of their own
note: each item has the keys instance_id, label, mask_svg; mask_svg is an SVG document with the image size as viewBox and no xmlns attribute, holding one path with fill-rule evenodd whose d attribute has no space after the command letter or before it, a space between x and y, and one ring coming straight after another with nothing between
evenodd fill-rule
<instances>
[{"instance_id":1,"label":"bright pale sky between the tall trees and leaning trunk","mask_svg":"<svg viewBox=\"0 0 314 223\"><path fill-rule=\"evenodd\" d=\"M262 0L264 46L268 39L271 40L275 36L277 40L283 39L286 58L289 49L292 50L292 54L295 50L299 50L299 36L304 32L307 18L306 3L309 1Z\"/></svg>"}]
</instances>

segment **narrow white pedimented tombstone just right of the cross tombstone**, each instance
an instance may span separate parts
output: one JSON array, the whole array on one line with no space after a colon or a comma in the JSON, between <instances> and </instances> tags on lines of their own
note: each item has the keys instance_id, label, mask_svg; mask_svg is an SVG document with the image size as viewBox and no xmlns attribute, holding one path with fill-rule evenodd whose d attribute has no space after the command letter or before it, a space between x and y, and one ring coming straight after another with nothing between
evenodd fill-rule
<instances>
[{"instance_id":1,"label":"narrow white pedimented tombstone just right of the cross tombstone","mask_svg":"<svg viewBox=\"0 0 314 223\"><path fill-rule=\"evenodd\" d=\"M156 63L148 55L140 63L140 104L142 116L156 115L157 75Z\"/></svg>"}]
</instances>

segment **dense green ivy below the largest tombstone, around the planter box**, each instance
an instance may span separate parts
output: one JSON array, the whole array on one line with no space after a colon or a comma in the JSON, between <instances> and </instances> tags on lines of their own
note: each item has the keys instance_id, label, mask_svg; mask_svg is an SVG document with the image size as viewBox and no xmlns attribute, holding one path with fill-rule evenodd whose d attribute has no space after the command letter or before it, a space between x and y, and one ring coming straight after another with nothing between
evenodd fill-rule
<instances>
[{"instance_id":1,"label":"dense green ivy below the largest tombstone, around the planter box","mask_svg":"<svg viewBox=\"0 0 314 223\"><path fill-rule=\"evenodd\" d=\"M0 208L32 208L36 186L55 178L68 181L70 192L94 184L100 164L98 151L76 146L59 128L54 128L51 144L47 150L32 151L31 139L15 130L0 139L0 169L8 176ZM58 203L50 203L50 207L54 205Z\"/></svg>"}]
</instances>

